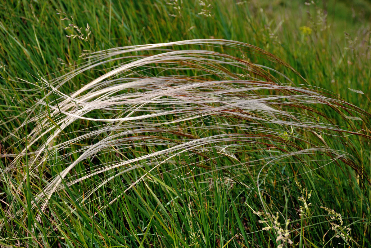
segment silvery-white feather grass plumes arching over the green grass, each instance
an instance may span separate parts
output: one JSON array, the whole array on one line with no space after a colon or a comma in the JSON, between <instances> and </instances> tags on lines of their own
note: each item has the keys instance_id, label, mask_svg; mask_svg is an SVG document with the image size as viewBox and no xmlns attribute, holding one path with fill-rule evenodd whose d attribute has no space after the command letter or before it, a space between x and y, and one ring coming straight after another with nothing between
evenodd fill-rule
<instances>
[{"instance_id":1,"label":"silvery-white feather grass plumes arching over the green grass","mask_svg":"<svg viewBox=\"0 0 371 248\"><path fill-rule=\"evenodd\" d=\"M92 70L96 77L86 76L80 89L64 87ZM370 114L308 86L291 66L249 44L201 39L118 47L91 53L77 69L34 85L45 97L26 112L29 118L19 129L32 130L22 140L23 151L2 173L27 166L29 179L42 181L29 203L39 211L37 221L52 195L101 175L76 199L83 205L112 179L145 166L150 169L125 182L122 194L158 173L183 180L195 176L178 175L169 169L174 166L220 171L241 183L240 176L253 170L258 189L271 166L311 171L333 163L368 180L350 140L370 138L359 131ZM347 125L335 123L329 112ZM86 128L66 131L76 123ZM328 144L334 139L343 149ZM109 153L118 154L116 161L102 162ZM86 164L89 169L76 173L76 166ZM62 172L46 175L45 165L62 166ZM255 193L265 206L261 192ZM7 218L24 215L26 208Z\"/></svg>"}]
</instances>

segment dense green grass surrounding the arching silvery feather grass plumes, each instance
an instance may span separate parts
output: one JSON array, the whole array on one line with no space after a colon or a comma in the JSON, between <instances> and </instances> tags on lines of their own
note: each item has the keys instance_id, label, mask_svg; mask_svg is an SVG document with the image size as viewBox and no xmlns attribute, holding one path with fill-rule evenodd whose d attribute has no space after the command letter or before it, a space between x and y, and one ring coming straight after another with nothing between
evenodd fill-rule
<instances>
[{"instance_id":1,"label":"dense green grass surrounding the arching silvery feather grass plumes","mask_svg":"<svg viewBox=\"0 0 371 248\"><path fill-rule=\"evenodd\" d=\"M371 178L368 136L371 131L367 114L371 112L369 6L370 3L360 0L354 6L347 1L326 1L325 5L322 2L307 5L304 1L235 0L1 1L0 246L224 248L283 244L292 247L282 240L276 241L282 234L279 224L275 223L276 212L279 212L282 230L289 231L290 239L298 247L371 247L371 186L368 181ZM65 29L69 24L75 27ZM326 131L329 135L318 138L311 132L285 129L286 133L276 136L280 140L267 141L269 149L266 143L259 143L250 150L234 151L242 161L237 167L236 159L210 146L209 154L175 156L171 163L153 171L153 163L139 161L142 166L121 173L89 196L86 195L92 188L112 173L120 173L120 169L114 168L68 185L101 165L165 149L167 140L202 137L208 131L207 135L213 135L219 131L215 131L212 124L221 123L222 128L226 119L220 116L184 121L179 127L174 126L179 133L161 134L159 145L135 145L136 141L131 140L132 146L128 149L107 148L86 159L73 168L68 180L62 180L65 187L51 196L45 210L43 202L32 204L37 202L36 196L47 183L58 178L59 173L78 158L79 149L111 135L102 132L81 143L76 142L68 148L70 150L50 155L36 172L31 172L29 158L46 142L48 137L45 136L34 143L16 165L12 164L12 154L22 152L31 140L26 139L27 134L39 124L29 122L30 119L39 116L48 120L45 125L55 125L55 130L59 129L56 124L59 117L53 116L49 109L49 105L58 102L58 96L48 95L52 91L42 79L53 82L79 69L89 52L202 38L237 40L260 47L292 66L303 78L285 64L267 60L261 54L223 47L214 49L273 68L287 75L293 85L311 85L312 90L321 89L330 97L339 97L365 110L354 118L344 118L348 114L351 116L350 110L348 113L329 106L315 106L314 110L298 110L296 105L282 107L303 115L313 114L318 117L318 123L333 124L358 135ZM185 44L182 48L194 47ZM151 51L136 55L147 54ZM89 58L86 60L89 62ZM101 70L76 75L59 90L69 95L114 66L115 62L109 62L97 67ZM148 77L162 72L156 67L139 69L146 70L144 76ZM242 69L232 66L226 69L243 73ZM168 71L170 75L181 73L177 69ZM266 71L268 76L264 78L268 80L271 75L269 69ZM187 73L193 76L193 72ZM258 90L257 94L264 92L280 94L275 90ZM44 99L45 106L34 106L38 99ZM117 115L116 110L95 109L85 117L106 119ZM155 120L167 120L161 118ZM236 126L247 122L243 118L230 120ZM102 123L97 120L80 119L64 129L53 144L81 136L83 129L99 130L99 127ZM274 125L264 127L275 130ZM230 130L225 131L228 132ZM154 137L150 132L143 136ZM274 150L277 144L282 147ZM264 166L273 151L277 155L293 151L294 146L309 149L313 144L347 152L354 160L326 154L328 160L322 161L323 154L313 153ZM66 155L63 160L59 159L62 155ZM160 162L162 158L158 159ZM259 159L256 165L248 164L248 161ZM243 162L249 166L244 166ZM8 169L11 165L13 167ZM142 178L145 180L127 190L128 185ZM311 206L305 208L309 202ZM341 214L343 224L338 215L321 207ZM332 216L336 219L331 219ZM350 227L351 239L337 238L341 234L336 231L339 229L331 230L331 223ZM269 229L267 225L276 225L276 228Z\"/></svg>"}]
</instances>

